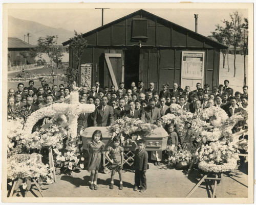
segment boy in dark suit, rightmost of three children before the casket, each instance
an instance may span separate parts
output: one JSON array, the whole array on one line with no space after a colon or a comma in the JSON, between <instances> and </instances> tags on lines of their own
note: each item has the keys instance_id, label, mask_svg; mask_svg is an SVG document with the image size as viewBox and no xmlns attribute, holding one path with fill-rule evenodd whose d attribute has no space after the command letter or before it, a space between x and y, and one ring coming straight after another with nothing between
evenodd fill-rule
<instances>
[{"instance_id":1,"label":"boy in dark suit, rightmost of three children before the casket","mask_svg":"<svg viewBox=\"0 0 256 205\"><path fill-rule=\"evenodd\" d=\"M137 142L138 149L135 151L134 165L135 165L135 185L134 191L138 190L141 186L140 192L146 190L146 170L148 154L145 150L145 140L140 139Z\"/></svg>"}]
</instances>

